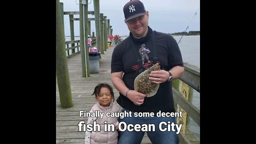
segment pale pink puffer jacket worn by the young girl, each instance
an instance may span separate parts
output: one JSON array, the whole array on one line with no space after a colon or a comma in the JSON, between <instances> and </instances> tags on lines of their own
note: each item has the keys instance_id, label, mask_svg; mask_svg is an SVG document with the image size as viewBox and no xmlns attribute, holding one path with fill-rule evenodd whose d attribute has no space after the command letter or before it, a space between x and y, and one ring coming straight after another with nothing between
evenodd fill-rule
<instances>
[{"instance_id":1,"label":"pale pink puffer jacket worn by the young girl","mask_svg":"<svg viewBox=\"0 0 256 144\"><path fill-rule=\"evenodd\" d=\"M117 143L117 137L118 132L115 128L114 132L105 132L104 131L104 122L107 121L107 124L114 124L116 125L117 117L107 117L107 112L118 112L117 111L117 104L114 102L111 102L108 107L103 107L97 102L92 109L94 111L99 110L100 112L104 112L103 117L100 119L98 117L96 119L96 123L100 124L100 132L93 132L91 133L91 144L96 143L109 143L109 144L116 144Z\"/></svg>"}]
</instances>

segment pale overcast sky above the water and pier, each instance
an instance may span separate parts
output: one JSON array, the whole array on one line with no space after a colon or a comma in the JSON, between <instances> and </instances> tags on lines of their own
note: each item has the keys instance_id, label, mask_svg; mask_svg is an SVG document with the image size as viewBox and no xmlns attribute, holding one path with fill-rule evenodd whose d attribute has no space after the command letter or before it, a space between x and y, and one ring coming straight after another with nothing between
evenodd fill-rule
<instances>
[{"instance_id":1,"label":"pale overcast sky above the water and pier","mask_svg":"<svg viewBox=\"0 0 256 144\"><path fill-rule=\"evenodd\" d=\"M129 29L124 23L123 7L130 0L100 0L100 13L110 19L113 35L129 35ZM79 11L79 0L60 0L63 9ZM149 12L150 28L163 33L178 33L200 30L200 0L141 0ZM88 0L88 10L94 11L93 0ZM74 15L79 18L79 15ZM88 18L94 18L89 14ZM64 15L65 36L70 36L69 16ZM74 21L75 36L79 36L79 21ZM91 32L95 33L95 22L91 21ZM96 34L96 33L95 33Z\"/></svg>"}]
</instances>

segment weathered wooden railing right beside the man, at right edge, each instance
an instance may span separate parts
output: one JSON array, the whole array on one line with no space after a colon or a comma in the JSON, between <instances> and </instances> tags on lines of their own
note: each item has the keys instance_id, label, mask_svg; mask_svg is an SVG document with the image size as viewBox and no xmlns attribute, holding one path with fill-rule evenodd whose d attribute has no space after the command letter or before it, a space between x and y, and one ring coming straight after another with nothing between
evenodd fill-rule
<instances>
[{"instance_id":1,"label":"weathered wooden railing right beside the man, at right edge","mask_svg":"<svg viewBox=\"0 0 256 144\"><path fill-rule=\"evenodd\" d=\"M180 143L198 143L193 133L188 130L188 117L200 127L200 110L192 104L194 90L200 93L200 69L187 63L184 63L184 66L183 75L172 83L175 109L177 112L182 111L182 117L177 118L177 123L182 124L179 138Z\"/></svg>"}]
</instances>

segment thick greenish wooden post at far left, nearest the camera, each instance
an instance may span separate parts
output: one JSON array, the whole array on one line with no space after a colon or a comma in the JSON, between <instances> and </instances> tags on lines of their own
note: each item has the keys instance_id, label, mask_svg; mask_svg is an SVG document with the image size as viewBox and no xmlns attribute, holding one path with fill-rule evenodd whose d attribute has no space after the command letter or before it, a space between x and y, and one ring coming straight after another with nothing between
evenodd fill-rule
<instances>
[{"instance_id":1,"label":"thick greenish wooden post at far left, nearest the camera","mask_svg":"<svg viewBox=\"0 0 256 144\"><path fill-rule=\"evenodd\" d=\"M73 101L59 0L56 0L56 77L59 87L60 105L62 108L70 108L73 106Z\"/></svg>"}]
</instances>

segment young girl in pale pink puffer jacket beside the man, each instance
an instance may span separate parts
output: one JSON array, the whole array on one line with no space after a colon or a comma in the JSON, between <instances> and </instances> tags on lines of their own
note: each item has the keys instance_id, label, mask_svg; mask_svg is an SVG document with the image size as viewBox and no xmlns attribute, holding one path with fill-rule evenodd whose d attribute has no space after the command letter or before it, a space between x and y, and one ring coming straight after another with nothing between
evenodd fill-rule
<instances>
[{"instance_id":1,"label":"young girl in pale pink puffer jacket beside the man","mask_svg":"<svg viewBox=\"0 0 256 144\"><path fill-rule=\"evenodd\" d=\"M117 127L118 127L118 121L117 117L107 117L107 112L118 112L118 106L116 103L114 103L114 92L113 88L106 84L106 83L100 83L98 84L93 94L95 94L95 98L98 101L90 110L90 113L96 113L96 110L100 111L100 113L103 112L103 117L89 117L87 124L93 124L95 121L97 124L100 124L100 131L86 131L85 132L85 144L93 144L93 143L117 143ZM92 94L92 95L93 95ZM113 102L112 102L113 99ZM104 122L107 122L107 125L114 124L115 125L115 131L104 131Z\"/></svg>"}]
</instances>

